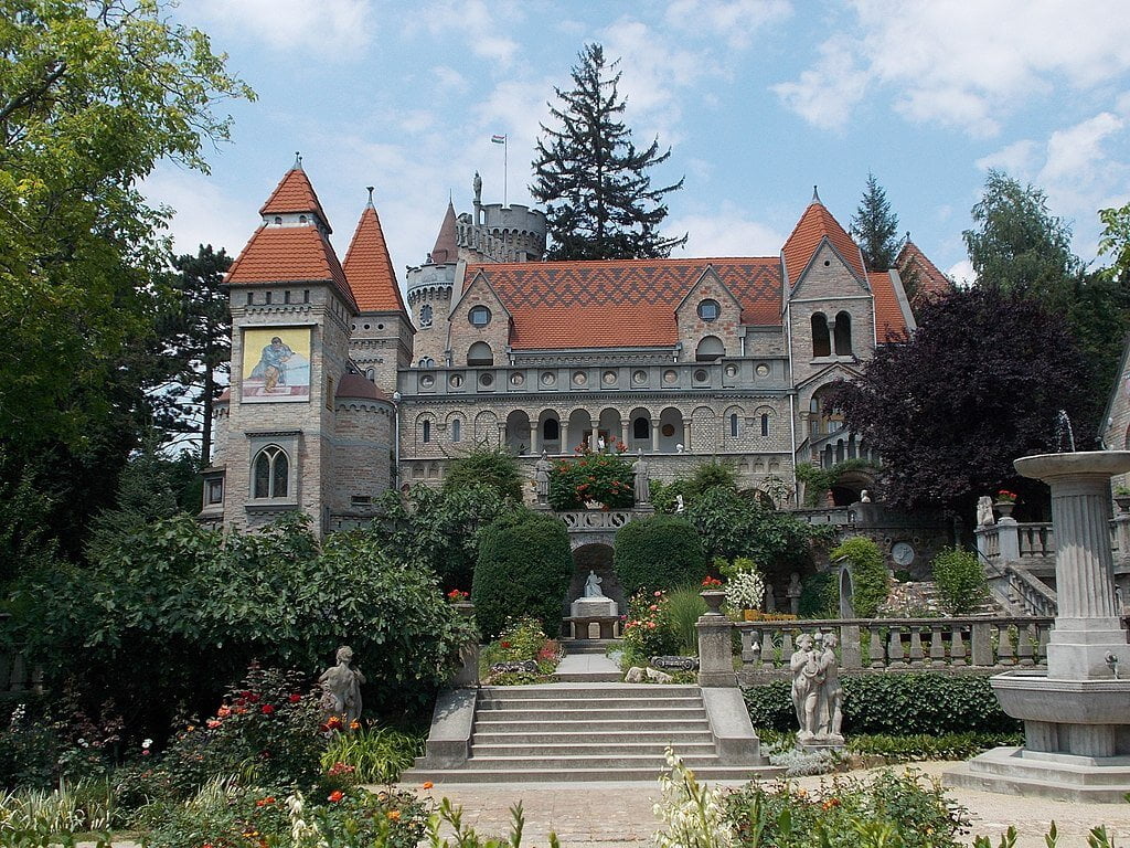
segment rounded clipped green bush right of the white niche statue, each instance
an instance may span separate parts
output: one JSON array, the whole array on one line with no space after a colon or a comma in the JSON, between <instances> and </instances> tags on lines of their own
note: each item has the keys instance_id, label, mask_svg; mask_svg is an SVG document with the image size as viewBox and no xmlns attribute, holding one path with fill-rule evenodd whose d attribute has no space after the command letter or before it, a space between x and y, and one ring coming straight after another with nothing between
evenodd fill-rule
<instances>
[{"instance_id":1,"label":"rounded clipped green bush right of the white niche statue","mask_svg":"<svg viewBox=\"0 0 1130 848\"><path fill-rule=\"evenodd\" d=\"M627 595L701 583L706 555L689 521L652 516L629 521L616 531L616 576Z\"/></svg>"}]
</instances>

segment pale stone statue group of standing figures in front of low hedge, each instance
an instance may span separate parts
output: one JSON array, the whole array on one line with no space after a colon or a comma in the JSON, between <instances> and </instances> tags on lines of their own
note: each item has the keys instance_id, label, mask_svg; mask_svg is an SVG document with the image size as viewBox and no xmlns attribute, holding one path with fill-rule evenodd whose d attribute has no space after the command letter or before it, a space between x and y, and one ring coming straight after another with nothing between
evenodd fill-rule
<instances>
[{"instance_id":1,"label":"pale stone statue group of standing figures in front of low hedge","mask_svg":"<svg viewBox=\"0 0 1130 848\"><path fill-rule=\"evenodd\" d=\"M789 667L792 670L792 706L800 732L797 742L842 745L843 689L836 663L836 634L801 633Z\"/></svg>"}]
</instances>

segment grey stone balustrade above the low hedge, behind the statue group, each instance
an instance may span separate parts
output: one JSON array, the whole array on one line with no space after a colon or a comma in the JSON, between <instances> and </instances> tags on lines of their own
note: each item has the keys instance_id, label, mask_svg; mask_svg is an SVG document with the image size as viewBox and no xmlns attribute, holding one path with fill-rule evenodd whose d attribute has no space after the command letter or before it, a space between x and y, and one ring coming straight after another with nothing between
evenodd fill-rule
<instances>
[{"instance_id":1,"label":"grey stone balustrade above the low hedge, behind the statue group","mask_svg":"<svg viewBox=\"0 0 1130 848\"><path fill-rule=\"evenodd\" d=\"M1048 658L1049 616L738 622L744 676L788 676L800 633L837 632L844 670L1033 667Z\"/></svg>"}]
</instances>

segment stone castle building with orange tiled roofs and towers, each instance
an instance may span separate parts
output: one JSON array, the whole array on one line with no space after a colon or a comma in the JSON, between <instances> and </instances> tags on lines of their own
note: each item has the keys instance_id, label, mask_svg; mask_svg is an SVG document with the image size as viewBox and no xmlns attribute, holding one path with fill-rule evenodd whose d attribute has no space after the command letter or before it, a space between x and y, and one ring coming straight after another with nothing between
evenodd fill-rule
<instances>
[{"instance_id":1,"label":"stone castle building with orange tiled roofs and towers","mask_svg":"<svg viewBox=\"0 0 1130 848\"><path fill-rule=\"evenodd\" d=\"M449 202L402 298L372 191L339 263L301 162L284 176L228 272L203 520L297 509L329 531L477 445L531 473L619 444L660 479L725 461L783 502L798 462L875 458L823 398L914 315L815 191L779 256L586 262L541 261L545 216L480 193L476 175L473 213ZM913 244L901 261L918 295L947 285Z\"/></svg>"}]
</instances>

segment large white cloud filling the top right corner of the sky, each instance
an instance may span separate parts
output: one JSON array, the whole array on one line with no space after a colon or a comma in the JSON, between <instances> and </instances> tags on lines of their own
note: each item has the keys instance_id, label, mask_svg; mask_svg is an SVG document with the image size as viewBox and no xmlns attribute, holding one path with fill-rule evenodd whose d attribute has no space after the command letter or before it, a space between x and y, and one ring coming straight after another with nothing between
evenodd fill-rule
<instances>
[{"instance_id":1,"label":"large white cloud filling the top right corner of the sky","mask_svg":"<svg viewBox=\"0 0 1130 848\"><path fill-rule=\"evenodd\" d=\"M825 41L799 79L776 87L816 126L844 126L862 94L881 88L911 120L992 136L999 118L1034 94L1087 90L1130 68L1121 0L932 0L897 14L886 0L854 0L852 10L847 32Z\"/></svg>"}]
</instances>

